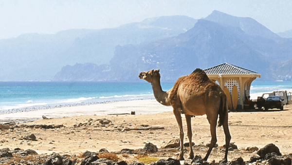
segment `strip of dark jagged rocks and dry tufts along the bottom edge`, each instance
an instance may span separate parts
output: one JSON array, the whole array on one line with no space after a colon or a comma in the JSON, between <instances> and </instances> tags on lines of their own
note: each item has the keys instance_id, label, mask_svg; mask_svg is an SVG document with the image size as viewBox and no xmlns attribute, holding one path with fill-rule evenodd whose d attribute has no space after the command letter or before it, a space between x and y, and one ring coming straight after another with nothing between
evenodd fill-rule
<instances>
[{"instance_id":1,"label":"strip of dark jagged rocks and dry tufts along the bottom edge","mask_svg":"<svg viewBox=\"0 0 292 165\"><path fill-rule=\"evenodd\" d=\"M237 148L232 144L230 150ZM198 149L194 146L194 149ZM257 150L258 148L249 148ZM3 165L181 165L182 161L173 157L159 159L156 158L160 154L177 155L178 148L174 149L158 149L156 145L148 143L143 149L122 149L120 152L109 152L107 149L101 149L98 153L86 151L79 155L61 155L57 153L37 154L32 149L22 150L15 148L0 149L0 164ZM220 149L224 152L224 149ZM215 149L218 152L218 149ZM204 161L201 156L196 156L193 160L185 160L183 165L291 165L292 154L282 155L279 148L274 144L268 144L265 147L255 151L257 156L253 156L249 161L244 162L241 157L219 162ZM127 159L134 156L136 160Z\"/></svg>"}]
</instances>

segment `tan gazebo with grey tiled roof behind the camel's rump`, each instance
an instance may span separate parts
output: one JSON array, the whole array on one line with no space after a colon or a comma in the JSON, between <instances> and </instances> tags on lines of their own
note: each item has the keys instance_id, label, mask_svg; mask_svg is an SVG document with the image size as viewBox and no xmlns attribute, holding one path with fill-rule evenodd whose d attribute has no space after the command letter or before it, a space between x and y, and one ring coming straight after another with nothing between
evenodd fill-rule
<instances>
[{"instance_id":1,"label":"tan gazebo with grey tiled roof behind the camel's rump","mask_svg":"<svg viewBox=\"0 0 292 165\"><path fill-rule=\"evenodd\" d=\"M222 89L226 86L230 93L232 93L233 86L237 86L237 109L244 108L244 99L250 94L251 83L257 77L260 78L260 74L257 72L230 63L222 63L220 65L204 69L204 71L209 79L217 81Z\"/></svg>"}]
</instances>

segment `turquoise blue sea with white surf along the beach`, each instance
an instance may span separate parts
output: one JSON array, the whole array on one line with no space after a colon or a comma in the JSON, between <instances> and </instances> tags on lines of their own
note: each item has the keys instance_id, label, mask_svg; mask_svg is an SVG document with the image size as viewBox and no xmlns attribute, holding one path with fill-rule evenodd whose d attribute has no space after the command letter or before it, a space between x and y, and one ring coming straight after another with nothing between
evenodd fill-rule
<instances>
[{"instance_id":1,"label":"turquoise blue sea with white surf along the beach","mask_svg":"<svg viewBox=\"0 0 292 165\"><path fill-rule=\"evenodd\" d=\"M162 82L164 91L175 82ZM254 81L250 93L292 89L292 82ZM141 82L0 82L0 114L62 106L154 99Z\"/></svg>"}]
</instances>

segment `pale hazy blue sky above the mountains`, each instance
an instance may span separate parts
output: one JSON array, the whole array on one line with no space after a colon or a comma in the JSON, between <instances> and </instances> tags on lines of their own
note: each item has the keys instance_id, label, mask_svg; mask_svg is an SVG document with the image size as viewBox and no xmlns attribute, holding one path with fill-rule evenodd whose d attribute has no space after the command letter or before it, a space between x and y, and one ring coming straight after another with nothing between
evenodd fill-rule
<instances>
[{"instance_id":1,"label":"pale hazy blue sky above the mountains","mask_svg":"<svg viewBox=\"0 0 292 165\"><path fill-rule=\"evenodd\" d=\"M0 0L0 40L112 28L160 16L201 19L214 10L251 17L275 33L292 29L292 0Z\"/></svg>"}]
</instances>

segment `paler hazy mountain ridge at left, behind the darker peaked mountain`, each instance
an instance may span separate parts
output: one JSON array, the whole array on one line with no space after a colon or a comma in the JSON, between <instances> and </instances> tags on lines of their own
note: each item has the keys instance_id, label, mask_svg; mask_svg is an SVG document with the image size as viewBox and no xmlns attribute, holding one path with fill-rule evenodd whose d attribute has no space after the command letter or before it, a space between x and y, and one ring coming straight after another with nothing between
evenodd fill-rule
<instances>
[{"instance_id":1,"label":"paler hazy mountain ridge at left, behind the darker peaked mountain","mask_svg":"<svg viewBox=\"0 0 292 165\"><path fill-rule=\"evenodd\" d=\"M0 40L1 81L52 80L76 62L109 64L117 45L140 44L176 36L197 20L186 16L146 19L109 29L71 29L56 34L23 34Z\"/></svg>"}]
</instances>

